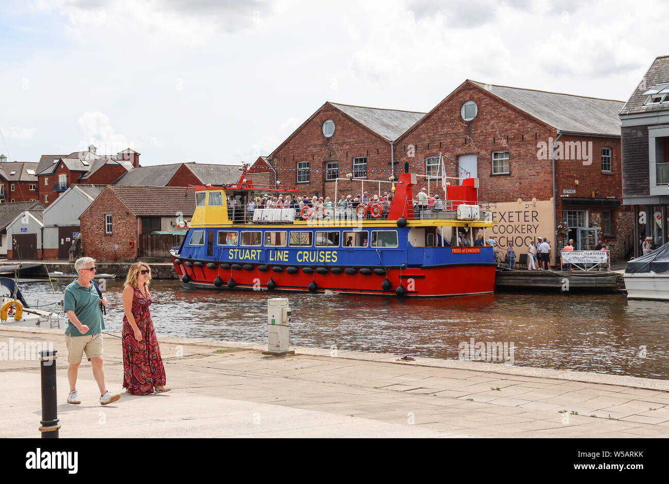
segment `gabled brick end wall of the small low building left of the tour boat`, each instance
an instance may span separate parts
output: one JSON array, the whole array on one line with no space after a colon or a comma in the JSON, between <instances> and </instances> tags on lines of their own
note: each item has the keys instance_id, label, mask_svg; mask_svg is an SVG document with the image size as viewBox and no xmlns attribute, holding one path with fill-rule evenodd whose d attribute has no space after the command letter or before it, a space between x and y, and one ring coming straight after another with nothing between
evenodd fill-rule
<instances>
[{"instance_id":1,"label":"gabled brick end wall of the small low building left of the tour boat","mask_svg":"<svg viewBox=\"0 0 669 484\"><path fill-rule=\"evenodd\" d=\"M112 233L105 233L105 215L112 215ZM79 217L84 255L100 261L128 261L138 255L137 217L105 189ZM133 241L134 247L129 247Z\"/></svg>"}]
</instances>

